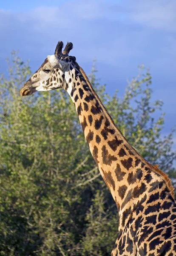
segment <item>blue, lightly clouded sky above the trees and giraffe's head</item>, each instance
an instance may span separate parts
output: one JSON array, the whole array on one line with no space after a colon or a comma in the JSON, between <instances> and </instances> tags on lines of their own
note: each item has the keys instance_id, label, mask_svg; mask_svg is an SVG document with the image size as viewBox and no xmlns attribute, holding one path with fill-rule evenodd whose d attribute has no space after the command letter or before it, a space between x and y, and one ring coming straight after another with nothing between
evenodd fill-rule
<instances>
[{"instance_id":1,"label":"blue, lightly clouded sky above the trees and giraffe's head","mask_svg":"<svg viewBox=\"0 0 176 256\"><path fill-rule=\"evenodd\" d=\"M97 58L98 77L110 94L118 88L122 95L127 78L145 64L152 99L165 103L163 134L176 125L176 0L0 1L0 35L1 72L12 49L35 71L57 41L71 41L71 54L86 73Z\"/></svg>"}]
</instances>

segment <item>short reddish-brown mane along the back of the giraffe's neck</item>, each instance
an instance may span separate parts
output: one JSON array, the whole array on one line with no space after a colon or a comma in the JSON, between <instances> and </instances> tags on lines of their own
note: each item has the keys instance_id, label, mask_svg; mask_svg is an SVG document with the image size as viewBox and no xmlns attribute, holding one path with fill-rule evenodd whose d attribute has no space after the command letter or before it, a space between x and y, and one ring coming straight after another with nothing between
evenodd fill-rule
<instances>
[{"instance_id":1,"label":"short reddish-brown mane along the back of the giraffe's neck","mask_svg":"<svg viewBox=\"0 0 176 256\"><path fill-rule=\"evenodd\" d=\"M78 65L79 66L79 65ZM82 73L82 76L84 77L85 81L88 83L88 85L91 87L91 90L94 90L91 86L91 83L87 77L87 75L85 74L84 70L82 69L82 67L79 66L79 70L80 72ZM101 102L101 101L100 101ZM111 116L109 116L111 118ZM111 119L112 120L112 119ZM114 123L114 121L112 120L112 122ZM115 124L114 124L115 125ZM121 133L121 132L120 132ZM122 133L121 133L122 134ZM124 137L125 139L125 137ZM125 139L126 140L126 139ZM127 140L126 140L127 142ZM127 142L128 143L128 142ZM168 175L166 173L164 173L162 170L160 170L158 168L159 164L156 164L156 165L153 165L151 163L149 163L147 160L145 160L145 158L143 158L133 147L131 147L134 151L135 151L135 154L138 155L138 157L140 158L140 160L142 160L142 162L145 162L149 167L150 169L152 169L154 172L158 173L160 176L162 176L167 184L167 187L168 189L170 190L170 194L171 196L173 197L173 199L175 200L175 197L174 197L174 187L172 185L172 182L170 180L170 178L168 177Z\"/></svg>"}]
</instances>

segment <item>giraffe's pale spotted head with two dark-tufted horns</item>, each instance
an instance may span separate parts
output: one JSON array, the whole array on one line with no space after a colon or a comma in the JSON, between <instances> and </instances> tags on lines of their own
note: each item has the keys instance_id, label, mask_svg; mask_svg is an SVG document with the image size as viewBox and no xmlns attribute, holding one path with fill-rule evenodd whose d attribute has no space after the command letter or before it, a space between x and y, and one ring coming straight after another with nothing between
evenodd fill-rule
<instances>
[{"instance_id":1,"label":"giraffe's pale spotted head with two dark-tufted horns","mask_svg":"<svg viewBox=\"0 0 176 256\"><path fill-rule=\"evenodd\" d=\"M59 41L54 55L48 55L40 68L26 81L20 90L21 96L31 95L36 91L49 91L68 86L65 81L65 72L76 61L74 56L68 56L73 44L67 43L62 52L63 43ZM72 66L71 66L72 65Z\"/></svg>"}]
</instances>

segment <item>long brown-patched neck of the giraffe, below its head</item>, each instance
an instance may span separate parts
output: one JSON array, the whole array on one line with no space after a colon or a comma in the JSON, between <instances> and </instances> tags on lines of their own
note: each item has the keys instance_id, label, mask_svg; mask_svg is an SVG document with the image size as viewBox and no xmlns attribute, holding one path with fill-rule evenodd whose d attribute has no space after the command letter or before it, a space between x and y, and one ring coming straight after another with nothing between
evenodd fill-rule
<instances>
[{"instance_id":1,"label":"long brown-patched neck of the giraffe, below its head","mask_svg":"<svg viewBox=\"0 0 176 256\"><path fill-rule=\"evenodd\" d=\"M123 137L83 70L79 66L69 70L65 73L65 80L85 139L116 202L119 215L127 211L121 220L125 223L135 203L146 197L147 192L150 194L150 184L162 182L166 187L168 184Z\"/></svg>"}]
</instances>

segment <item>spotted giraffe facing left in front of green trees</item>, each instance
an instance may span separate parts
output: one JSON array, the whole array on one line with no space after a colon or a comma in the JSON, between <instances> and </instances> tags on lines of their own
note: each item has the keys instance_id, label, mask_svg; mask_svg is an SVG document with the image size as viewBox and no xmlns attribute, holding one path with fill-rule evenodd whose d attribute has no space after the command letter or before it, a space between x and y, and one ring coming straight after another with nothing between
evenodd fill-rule
<instances>
[{"instance_id":1,"label":"spotted giraffe facing left in front of green trees","mask_svg":"<svg viewBox=\"0 0 176 256\"><path fill-rule=\"evenodd\" d=\"M176 256L176 201L169 177L146 161L108 115L88 77L59 41L21 96L62 88L77 110L99 171L116 202L119 234L111 256Z\"/></svg>"}]
</instances>

